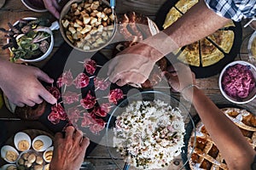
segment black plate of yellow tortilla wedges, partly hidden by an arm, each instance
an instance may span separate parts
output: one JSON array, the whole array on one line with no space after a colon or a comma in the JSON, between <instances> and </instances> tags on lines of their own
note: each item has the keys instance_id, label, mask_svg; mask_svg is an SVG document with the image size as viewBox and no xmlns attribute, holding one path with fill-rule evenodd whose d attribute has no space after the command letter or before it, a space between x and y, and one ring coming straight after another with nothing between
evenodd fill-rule
<instances>
[{"instance_id":1,"label":"black plate of yellow tortilla wedges, partly hidden by an arm","mask_svg":"<svg viewBox=\"0 0 256 170\"><path fill-rule=\"evenodd\" d=\"M160 8L155 23L160 30L178 20L199 0L167 0ZM179 48L174 54L177 60L190 65L196 78L218 74L225 65L236 58L241 46L241 24L230 20L226 26L212 35Z\"/></svg>"}]
</instances>

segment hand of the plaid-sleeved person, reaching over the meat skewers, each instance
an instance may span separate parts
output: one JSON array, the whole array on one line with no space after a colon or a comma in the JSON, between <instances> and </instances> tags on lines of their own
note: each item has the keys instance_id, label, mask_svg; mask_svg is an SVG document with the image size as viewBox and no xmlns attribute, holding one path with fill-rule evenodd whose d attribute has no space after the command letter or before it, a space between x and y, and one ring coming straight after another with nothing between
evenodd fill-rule
<instances>
[{"instance_id":1,"label":"hand of the plaid-sleeved person, reaching over the meat skewers","mask_svg":"<svg viewBox=\"0 0 256 170\"><path fill-rule=\"evenodd\" d=\"M109 81L116 82L119 86L124 86L126 83L145 82L157 61L151 56L156 55L161 54L143 43L125 48L108 65Z\"/></svg>"}]
</instances>

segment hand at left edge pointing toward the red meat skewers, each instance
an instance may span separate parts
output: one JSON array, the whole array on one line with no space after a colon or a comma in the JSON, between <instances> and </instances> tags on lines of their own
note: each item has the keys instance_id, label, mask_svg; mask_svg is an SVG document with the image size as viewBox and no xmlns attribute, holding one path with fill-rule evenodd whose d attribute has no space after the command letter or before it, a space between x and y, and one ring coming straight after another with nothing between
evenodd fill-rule
<instances>
[{"instance_id":1,"label":"hand at left edge pointing toward the red meat skewers","mask_svg":"<svg viewBox=\"0 0 256 170\"><path fill-rule=\"evenodd\" d=\"M1 63L0 88L10 102L20 107L40 104L43 99L50 104L55 104L56 99L49 94L38 80L54 82L43 71L36 67L13 64L9 61Z\"/></svg>"}]
</instances>

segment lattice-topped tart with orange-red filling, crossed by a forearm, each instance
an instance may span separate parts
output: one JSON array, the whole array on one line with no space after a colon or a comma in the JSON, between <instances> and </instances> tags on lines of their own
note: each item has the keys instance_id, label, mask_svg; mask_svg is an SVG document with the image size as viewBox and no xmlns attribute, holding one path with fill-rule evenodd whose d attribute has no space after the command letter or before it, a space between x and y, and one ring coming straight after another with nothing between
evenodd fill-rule
<instances>
[{"instance_id":1,"label":"lattice-topped tart with orange-red filling, crossed by a forearm","mask_svg":"<svg viewBox=\"0 0 256 170\"><path fill-rule=\"evenodd\" d=\"M256 124L255 118L252 112L243 108L233 106L219 106L221 111L230 118L237 127L241 129L241 133L247 139L247 141L255 149L255 132ZM193 149L192 156L189 158L189 164L186 165L186 169L228 169L224 158L218 150L218 147L214 144L211 137L207 133L207 129L199 116L193 117L195 120L195 129L190 129L189 138L186 141L186 147L188 153ZM194 140L196 143L194 145ZM186 153L183 155L186 159Z\"/></svg>"}]
</instances>

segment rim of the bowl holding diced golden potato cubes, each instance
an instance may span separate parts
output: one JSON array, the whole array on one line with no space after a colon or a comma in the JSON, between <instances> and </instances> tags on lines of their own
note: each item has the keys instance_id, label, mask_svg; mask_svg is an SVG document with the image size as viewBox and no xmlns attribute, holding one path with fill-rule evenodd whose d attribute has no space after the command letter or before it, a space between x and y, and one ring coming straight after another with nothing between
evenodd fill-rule
<instances>
[{"instance_id":1,"label":"rim of the bowl holding diced golden potato cubes","mask_svg":"<svg viewBox=\"0 0 256 170\"><path fill-rule=\"evenodd\" d=\"M113 41L113 38L115 37L116 32L117 32L118 17L117 17L117 14L116 14L115 11L114 11L115 18L114 18L114 23L113 23L113 26L114 26L114 27L113 27L113 34L112 34L112 36L109 38L108 42L104 43L102 46L100 46L100 47L98 47L98 48L93 48L93 49L90 49L90 50L84 50L84 49L82 49L82 48L75 47L75 46L73 45L73 43L70 42L70 41L67 39L67 36L66 36L66 34L65 34L65 29L64 29L63 26L62 26L61 20L62 20L62 18L68 13L68 11L70 10L72 3L81 3L81 2L83 2L83 1L84 1L84 0L70 0L70 1L68 1L68 2L65 4L65 6L62 8L62 10L61 10L61 15L60 15L60 19L59 19L61 37L63 37L63 39L65 40L65 42L67 42L67 44L68 44L69 46L71 46L72 48L77 49L77 50L79 50L79 51L81 51L81 52L97 52L97 51L99 51L100 49L105 48L106 46L108 46L109 43ZM107 4L107 5L110 7L110 4L108 3L107 0L102 0L102 3L105 3L105 4ZM66 11L66 12L65 12L65 11Z\"/></svg>"}]
</instances>

